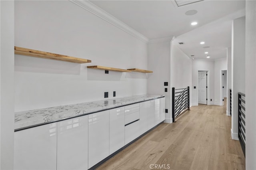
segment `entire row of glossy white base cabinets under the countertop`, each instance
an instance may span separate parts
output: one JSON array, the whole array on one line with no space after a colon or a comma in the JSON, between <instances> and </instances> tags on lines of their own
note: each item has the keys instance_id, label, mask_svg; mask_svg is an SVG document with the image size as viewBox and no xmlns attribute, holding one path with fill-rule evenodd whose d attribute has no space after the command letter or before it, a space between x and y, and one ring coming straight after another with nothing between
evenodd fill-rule
<instances>
[{"instance_id":1,"label":"entire row of glossy white base cabinets under the countertop","mask_svg":"<svg viewBox=\"0 0 256 170\"><path fill-rule=\"evenodd\" d=\"M15 170L86 170L165 119L165 98L14 133Z\"/></svg>"}]
</instances>

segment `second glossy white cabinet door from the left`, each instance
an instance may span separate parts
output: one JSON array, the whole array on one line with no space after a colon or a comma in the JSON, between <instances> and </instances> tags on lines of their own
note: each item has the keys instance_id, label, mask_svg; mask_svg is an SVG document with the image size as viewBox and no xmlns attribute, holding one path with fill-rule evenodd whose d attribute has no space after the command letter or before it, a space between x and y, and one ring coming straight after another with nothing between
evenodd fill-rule
<instances>
[{"instance_id":1,"label":"second glossy white cabinet door from the left","mask_svg":"<svg viewBox=\"0 0 256 170\"><path fill-rule=\"evenodd\" d=\"M88 115L58 122L57 170L88 169Z\"/></svg>"}]
</instances>

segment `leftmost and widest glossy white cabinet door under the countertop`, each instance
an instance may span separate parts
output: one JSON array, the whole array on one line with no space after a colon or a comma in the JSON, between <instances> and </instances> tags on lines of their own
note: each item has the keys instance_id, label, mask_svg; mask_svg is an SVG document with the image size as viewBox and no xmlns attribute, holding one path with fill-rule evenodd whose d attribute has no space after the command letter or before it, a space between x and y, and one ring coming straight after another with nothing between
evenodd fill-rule
<instances>
[{"instance_id":1,"label":"leftmost and widest glossy white cabinet door under the countertop","mask_svg":"<svg viewBox=\"0 0 256 170\"><path fill-rule=\"evenodd\" d=\"M57 156L57 123L14 132L15 170L54 170Z\"/></svg>"}]
</instances>

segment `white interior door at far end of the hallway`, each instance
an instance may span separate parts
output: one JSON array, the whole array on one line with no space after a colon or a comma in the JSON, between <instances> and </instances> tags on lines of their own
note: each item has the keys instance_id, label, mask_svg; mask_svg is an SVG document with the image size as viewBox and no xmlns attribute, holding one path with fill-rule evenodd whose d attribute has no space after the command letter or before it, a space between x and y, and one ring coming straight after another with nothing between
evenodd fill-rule
<instances>
[{"instance_id":1,"label":"white interior door at far end of the hallway","mask_svg":"<svg viewBox=\"0 0 256 170\"><path fill-rule=\"evenodd\" d=\"M206 105L206 71L198 71L198 104Z\"/></svg>"}]
</instances>

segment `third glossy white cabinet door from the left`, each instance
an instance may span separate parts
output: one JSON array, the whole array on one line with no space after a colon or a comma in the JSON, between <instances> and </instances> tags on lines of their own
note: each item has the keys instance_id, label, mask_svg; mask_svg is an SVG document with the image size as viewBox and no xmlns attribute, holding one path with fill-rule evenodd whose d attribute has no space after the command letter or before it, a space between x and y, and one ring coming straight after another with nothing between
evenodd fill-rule
<instances>
[{"instance_id":1,"label":"third glossy white cabinet door from the left","mask_svg":"<svg viewBox=\"0 0 256 170\"><path fill-rule=\"evenodd\" d=\"M109 111L88 115L88 168L109 155Z\"/></svg>"}]
</instances>

